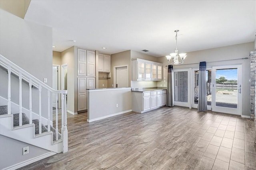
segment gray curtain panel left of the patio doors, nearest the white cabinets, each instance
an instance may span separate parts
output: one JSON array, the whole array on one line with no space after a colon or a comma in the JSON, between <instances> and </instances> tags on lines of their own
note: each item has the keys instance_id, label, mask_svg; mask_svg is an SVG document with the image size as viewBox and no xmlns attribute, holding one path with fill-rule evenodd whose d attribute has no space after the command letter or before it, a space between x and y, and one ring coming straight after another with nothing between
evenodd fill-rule
<instances>
[{"instance_id":1,"label":"gray curtain panel left of the patio doors, nearest the white cabinets","mask_svg":"<svg viewBox=\"0 0 256 170\"><path fill-rule=\"evenodd\" d=\"M174 106L174 86L173 86L173 68L172 65L168 65L168 89L167 89L167 102L166 106Z\"/></svg>"}]
</instances>

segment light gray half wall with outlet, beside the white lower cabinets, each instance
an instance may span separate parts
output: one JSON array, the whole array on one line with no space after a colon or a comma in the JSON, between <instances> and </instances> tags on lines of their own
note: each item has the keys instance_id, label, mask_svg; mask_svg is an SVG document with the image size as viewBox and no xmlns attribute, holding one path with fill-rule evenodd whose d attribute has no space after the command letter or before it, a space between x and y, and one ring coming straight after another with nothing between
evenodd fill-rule
<instances>
[{"instance_id":1,"label":"light gray half wall with outlet, beside the white lower cabinets","mask_svg":"<svg viewBox=\"0 0 256 170\"><path fill-rule=\"evenodd\" d=\"M131 89L88 90L87 94L88 119L90 120L132 109Z\"/></svg>"}]
</instances>

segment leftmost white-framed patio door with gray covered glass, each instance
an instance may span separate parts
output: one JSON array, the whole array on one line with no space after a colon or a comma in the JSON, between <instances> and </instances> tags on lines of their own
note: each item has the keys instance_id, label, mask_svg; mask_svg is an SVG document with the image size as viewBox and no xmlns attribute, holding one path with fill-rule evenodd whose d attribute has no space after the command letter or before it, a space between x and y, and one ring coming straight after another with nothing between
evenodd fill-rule
<instances>
[{"instance_id":1,"label":"leftmost white-framed patio door with gray covered glass","mask_svg":"<svg viewBox=\"0 0 256 170\"><path fill-rule=\"evenodd\" d=\"M190 82L189 69L174 70L174 105L190 107L191 88L188 88Z\"/></svg>"}]
</instances>

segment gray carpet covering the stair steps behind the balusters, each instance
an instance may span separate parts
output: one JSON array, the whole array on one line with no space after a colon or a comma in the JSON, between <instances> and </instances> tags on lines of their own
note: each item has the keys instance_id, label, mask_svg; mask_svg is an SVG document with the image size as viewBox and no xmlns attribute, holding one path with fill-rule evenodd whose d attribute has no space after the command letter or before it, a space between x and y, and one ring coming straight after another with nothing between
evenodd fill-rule
<instances>
[{"instance_id":1,"label":"gray carpet covering the stair steps behind the balusters","mask_svg":"<svg viewBox=\"0 0 256 170\"><path fill-rule=\"evenodd\" d=\"M4 115L8 113L8 107L7 106L0 106L0 115ZM39 134L39 120L38 119L34 119L32 120L32 123L35 124L35 134ZM26 116L25 113L22 113L22 125L26 125L29 124L29 119ZM13 126L19 126L20 125L20 115L19 113L15 113L13 114ZM50 126L50 130L53 132L53 140L56 140L56 132L54 127ZM42 133L47 132L47 125L44 126L42 124ZM61 134L58 133L58 139L61 139Z\"/></svg>"}]
</instances>

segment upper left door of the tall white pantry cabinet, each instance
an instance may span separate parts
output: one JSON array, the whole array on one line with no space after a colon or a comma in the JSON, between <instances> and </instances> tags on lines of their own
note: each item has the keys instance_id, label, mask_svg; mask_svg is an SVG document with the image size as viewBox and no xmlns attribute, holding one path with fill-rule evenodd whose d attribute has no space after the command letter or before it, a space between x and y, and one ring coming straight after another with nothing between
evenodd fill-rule
<instances>
[{"instance_id":1,"label":"upper left door of the tall white pantry cabinet","mask_svg":"<svg viewBox=\"0 0 256 170\"><path fill-rule=\"evenodd\" d=\"M86 76L86 50L78 49L77 50L77 59L78 59L78 76Z\"/></svg>"}]
</instances>

